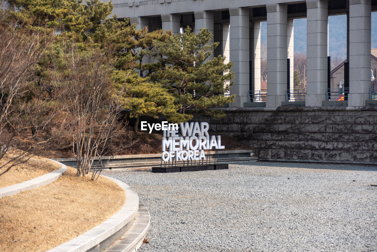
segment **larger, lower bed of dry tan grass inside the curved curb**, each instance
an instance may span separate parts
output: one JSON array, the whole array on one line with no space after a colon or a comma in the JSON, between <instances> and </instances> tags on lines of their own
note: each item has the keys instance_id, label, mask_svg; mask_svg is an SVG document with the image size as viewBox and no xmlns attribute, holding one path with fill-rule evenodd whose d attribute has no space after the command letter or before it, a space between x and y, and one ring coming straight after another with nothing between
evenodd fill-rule
<instances>
[{"instance_id":1,"label":"larger, lower bed of dry tan grass inside the curved curb","mask_svg":"<svg viewBox=\"0 0 377 252\"><path fill-rule=\"evenodd\" d=\"M125 193L115 182L76 177L0 199L0 251L46 251L71 240L120 210Z\"/></svg>"}]
</instances>

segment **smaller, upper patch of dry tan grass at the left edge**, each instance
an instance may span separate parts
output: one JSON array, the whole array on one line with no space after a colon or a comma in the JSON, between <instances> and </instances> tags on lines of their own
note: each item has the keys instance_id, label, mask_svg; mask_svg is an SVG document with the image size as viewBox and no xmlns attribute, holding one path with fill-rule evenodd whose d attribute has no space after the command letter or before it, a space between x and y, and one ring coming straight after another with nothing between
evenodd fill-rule
<instances>
[{"instance_id":1,"label":"smaller, upper patch of dry tan grass at the left edge","mask_svg":"<svg viewBox=\"0 0 377 252\"><path fill-rule=\"evenodd\" d=\"M9 156L4 156L0 164L5 164L7 161L9 161ZM6 168L7 167L4 167L2 170L6 170ZM37 178L60 168L60 165L51 160L33 157L30 158L27 163L12 167L11 170L0 176L0 188Z\"/></svg>"}]
</instances>

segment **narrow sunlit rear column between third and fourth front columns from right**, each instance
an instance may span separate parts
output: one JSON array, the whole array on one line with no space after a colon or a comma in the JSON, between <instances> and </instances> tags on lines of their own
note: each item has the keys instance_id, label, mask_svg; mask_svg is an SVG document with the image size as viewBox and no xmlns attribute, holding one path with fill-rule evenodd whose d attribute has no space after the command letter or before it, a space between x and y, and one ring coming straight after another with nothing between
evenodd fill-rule
<instances>
[{"instance_id":1,"label":"narrow sunlit rear column between third and fourth front columns from right","mask_svg":"<svg viewBox=\"0 0 377 252\"><path fill-rule=\"evenodd\" d=\"M252 22L250 33L253 38L250 40L250 60L253 62L254 91L261 90L261 22Z\"/></svg>"}]
</instances>

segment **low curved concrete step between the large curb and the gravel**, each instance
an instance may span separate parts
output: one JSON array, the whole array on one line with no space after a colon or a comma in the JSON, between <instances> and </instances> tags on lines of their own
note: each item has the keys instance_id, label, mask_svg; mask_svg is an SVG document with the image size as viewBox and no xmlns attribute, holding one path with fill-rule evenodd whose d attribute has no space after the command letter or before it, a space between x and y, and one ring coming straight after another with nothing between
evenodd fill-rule
<instances>
[{"instance_id":1,"label":"low curved concrete step between the large curb and the gravel","mask_svg":"<svg viewBox=\"0 0 377 252\"><path fill-rule=\"evenodd\" d=\"M122 235L106 252L131 252L136 251L150 227L150 215L146 206L139 201L139 211L130 229Z\"/></svg>"}]
</instances>

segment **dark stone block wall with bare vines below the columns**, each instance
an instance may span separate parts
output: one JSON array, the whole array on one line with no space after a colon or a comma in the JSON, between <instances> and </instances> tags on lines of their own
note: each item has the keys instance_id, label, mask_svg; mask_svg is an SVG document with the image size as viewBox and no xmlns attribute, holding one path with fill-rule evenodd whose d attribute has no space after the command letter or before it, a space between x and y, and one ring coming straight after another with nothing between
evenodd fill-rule
<instances>
[{"instance_id":1,"label":"dark stone block wall with bare vines below the columns","mask_svg":"<svg viewBox=\"0 0 377 252\"><path fill-rule=\"evenodd\" d=\"M225 113L221 119L195 116L194 121L237 136L260 160L377 164L377 107L241 108Z\"/></svg>"}]
</instances>

